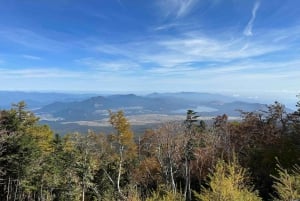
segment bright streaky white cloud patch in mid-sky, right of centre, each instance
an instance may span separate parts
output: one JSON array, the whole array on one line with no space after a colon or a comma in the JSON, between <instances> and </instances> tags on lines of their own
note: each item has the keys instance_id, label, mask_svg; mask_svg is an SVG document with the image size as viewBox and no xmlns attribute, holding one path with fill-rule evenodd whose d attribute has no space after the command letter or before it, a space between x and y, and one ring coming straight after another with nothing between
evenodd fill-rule
<instances>
[{"instance_id":1,"label":"bright streaky white cloud patch in mid-sky, right of centre","mask_svg":"<svg viewBox=\"0 0 300 201\"><path fill-rule=\"evenodd\" d=\"M223 41L207 36L194 35L158 42L165 53L152 55L154 59L165 59L180 64L180 62L231 61L249 58L282 49L280 45L262 45L252 42L245 46L243 39ZM150 59L150 58L149 58ZM159 59L160 60L160 59Z\"/></svg>"}]
</instances>

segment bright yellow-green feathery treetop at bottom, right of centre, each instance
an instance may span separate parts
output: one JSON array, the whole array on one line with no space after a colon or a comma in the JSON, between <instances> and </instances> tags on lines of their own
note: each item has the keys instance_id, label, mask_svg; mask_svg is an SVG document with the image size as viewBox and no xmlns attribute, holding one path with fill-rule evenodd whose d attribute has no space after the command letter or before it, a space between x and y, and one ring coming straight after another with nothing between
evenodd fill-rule
<instances>
[{"instance_id":1,"label":"bright yellow-green feathery treetop at bottom, right of centre","mask_svg":"<svg viewBox=\"0 0 300 201\"><path fill-rule=\"evenodd\" d=\"M195 197L202 201L259 201L257 193L248 185L247 171L236 160L219 160L209 175L209 187Z\"/></svg>"}]
</instances>

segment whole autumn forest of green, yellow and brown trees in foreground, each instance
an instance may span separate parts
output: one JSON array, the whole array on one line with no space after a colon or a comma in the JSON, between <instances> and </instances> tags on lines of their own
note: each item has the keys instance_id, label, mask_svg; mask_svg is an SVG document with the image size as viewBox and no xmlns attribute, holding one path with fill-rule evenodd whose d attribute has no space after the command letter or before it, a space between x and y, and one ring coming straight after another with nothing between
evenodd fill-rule
<instances>
[{"instance_id":1,"label":"whole autumn forest of green, yellow and brown trees in foreground","mask_svg":"<svg viewBox=\"0 0 300 201\"><path fill-rule=\"evenodd\" d=\"M300 101L212 125L189 110L142 136L109 115L112 133L60 136L24 102L2 110L0 200L300 200Z\"/></svg>"}]
</instances>

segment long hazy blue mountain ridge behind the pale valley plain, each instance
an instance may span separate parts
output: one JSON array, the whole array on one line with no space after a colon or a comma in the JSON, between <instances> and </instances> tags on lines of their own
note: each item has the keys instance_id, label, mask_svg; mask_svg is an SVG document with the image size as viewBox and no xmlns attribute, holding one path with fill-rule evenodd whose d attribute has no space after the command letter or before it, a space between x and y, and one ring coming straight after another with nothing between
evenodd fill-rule
<instances>
[{"instance_id":1,"label":"long hazy blue mountain ridge behind the pale valley plain","mask_svg":"<svg viewBox=\"0 0 300 201\"><path fill-rule=\"evenodd\" d=\"M202 116L227 114L239 116L239 111L265 109L264 104L247 103L219 94L209 93L153 93L146 96L96 96L80 101L57 101L35 112L42 117L60 121L93 121L107 117L108 110L124 110L126 115L185 114L188 109Z\"/></svg>"}]
</instances>

